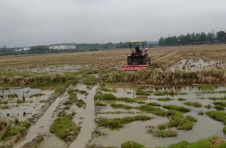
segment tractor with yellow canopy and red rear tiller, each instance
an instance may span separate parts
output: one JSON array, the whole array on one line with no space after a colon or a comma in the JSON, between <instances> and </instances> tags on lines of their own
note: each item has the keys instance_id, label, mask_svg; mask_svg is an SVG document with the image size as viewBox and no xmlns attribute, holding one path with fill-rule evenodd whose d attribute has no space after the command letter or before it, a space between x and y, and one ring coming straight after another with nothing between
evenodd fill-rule
<instances>
[{"instance_id":1,"label":"tractor with yellow canopy and red rear tiller","mask_svg":"<svg viewBox=\"0 0 226 148\"><path fill-rule=\"evenodd\" d=\"M127 56L127 65L123 65L121 67L122 71L136 71L146 69L147 66L151 64L151 58L148 56L147 52L144 52L146 48L145 41L130 41L130 50L131 53ZM132 45L139 45L141 44L142 53L136 52L136 50L132 50Z\"/></svg>"}]
</instances>

